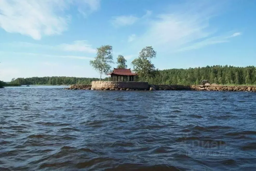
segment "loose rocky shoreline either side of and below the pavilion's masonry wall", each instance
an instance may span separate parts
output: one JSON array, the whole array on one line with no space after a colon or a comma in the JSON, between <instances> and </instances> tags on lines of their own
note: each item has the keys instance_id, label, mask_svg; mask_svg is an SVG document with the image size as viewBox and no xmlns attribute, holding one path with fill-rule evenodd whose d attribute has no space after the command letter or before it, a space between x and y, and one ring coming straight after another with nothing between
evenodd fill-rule
<instances>
[{"instance_id":1,"label":"loose rocky shoreline either side of and below the pavilion's masonry wall","mask_svg":"<svg viewBox=\"0 0 256 171\"><path fill-rule=\"evenodd\" d=\"M74 84L67 90L95 90L91 88L90 84ZM147 89L130 89L130 88L102 88L100 90L126 90L126 91L135 91L135 90L194 90L194 91L251 91L256 92L256 86L227 86L227 85L149 85Z\"/></svg>"}]
</instances>

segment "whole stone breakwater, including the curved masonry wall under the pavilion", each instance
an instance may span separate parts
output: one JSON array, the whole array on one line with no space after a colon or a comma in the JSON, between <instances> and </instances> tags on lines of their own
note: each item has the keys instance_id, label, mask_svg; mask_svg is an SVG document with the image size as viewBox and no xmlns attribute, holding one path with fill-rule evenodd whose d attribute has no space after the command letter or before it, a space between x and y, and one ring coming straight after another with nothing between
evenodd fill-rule
<instances>
[{"instance_id":1,"label":"whole stone breakwater, including the curved masonry wall under the pavilion","mask_svg":"<svg viewBox=\"0 0 256 171\"><path fill-rule=\"evenodd\" d=\"M92 81L92 84L74 84L68 90L194 90L194 91L252 91L256 86L226 85L149 85L147 82Z\"/></svg>"}]
</instances>

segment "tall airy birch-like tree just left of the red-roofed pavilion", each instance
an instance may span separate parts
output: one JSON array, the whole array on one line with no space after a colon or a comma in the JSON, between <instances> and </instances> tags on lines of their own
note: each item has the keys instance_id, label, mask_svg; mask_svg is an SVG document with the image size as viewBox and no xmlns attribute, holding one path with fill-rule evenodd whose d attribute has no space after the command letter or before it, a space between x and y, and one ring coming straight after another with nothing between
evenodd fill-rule
<instances>
[{"instance_id":1,"label":"tall airy birch-like tree just left of the red-roofed pavilion","mask_svg":"<svg viewBox=\"0 0 256 171\"><path fill-rule=\"evenodd\" d=\"M110 45L97 48L97 56L90 61L90 65L100 73L100 80L102 73L107 74L110 72L110 63L113 63L112 46Z\"/></svg>"}]
</instances>

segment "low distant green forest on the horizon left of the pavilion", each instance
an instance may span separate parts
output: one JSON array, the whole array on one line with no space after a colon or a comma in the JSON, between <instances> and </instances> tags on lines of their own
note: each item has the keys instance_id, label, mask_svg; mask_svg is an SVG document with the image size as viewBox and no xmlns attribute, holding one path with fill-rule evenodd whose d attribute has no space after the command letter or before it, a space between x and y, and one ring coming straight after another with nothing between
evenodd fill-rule
<instances>
[{"instance_id":1,"label":"low distant green forest on the horizon left of the pavilion","mask_svg":"<svg viewBox=\"0 0 256 171\"><path fill-rule=\"evenodd\" d=\"M77 78L77 77L31 77L17 78L10 82L10 85L70 85L70 84L91 84L92 81L98 81L98 78Z\"/></svg>"}]
</instances>

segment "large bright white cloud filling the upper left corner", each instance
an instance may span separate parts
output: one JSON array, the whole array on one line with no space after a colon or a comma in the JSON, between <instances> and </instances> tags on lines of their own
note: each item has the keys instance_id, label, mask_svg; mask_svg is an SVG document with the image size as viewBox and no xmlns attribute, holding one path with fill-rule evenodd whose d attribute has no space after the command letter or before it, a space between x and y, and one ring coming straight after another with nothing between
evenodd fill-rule
<instances>
[{"instance_id":1,"label":"large bright white cloud filling the upper left corner","mask_svg":"<svg viewBox=\"0 0 256 171\"><path fill-rule=\"evenodd\" d=\"M68 28L70 16L65 12L71 5L78 5L78 11L85 14L97 10L99 0L1 0L0 27L36 40L61 34Z\"/></svg>"}]
</instances>

